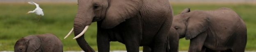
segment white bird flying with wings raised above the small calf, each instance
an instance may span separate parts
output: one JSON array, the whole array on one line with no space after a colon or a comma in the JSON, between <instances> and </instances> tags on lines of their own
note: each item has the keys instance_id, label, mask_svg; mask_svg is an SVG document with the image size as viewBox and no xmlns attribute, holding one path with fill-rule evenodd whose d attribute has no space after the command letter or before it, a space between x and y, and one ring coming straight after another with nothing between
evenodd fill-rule
<instances>
[{"instance_id":1,"label":"white bird flying with wings raised above the small calf","mask_svg":"<svg viewBox=\"0 0 256 52\"><path fill-rule=\"evenodd\" d=\"M37 3L35 3L35 2L28 2L28 3L31 4L31 5L36 5L37 8L35 10L33 10L33 11L28 11L27 14L35 13L35 14L37 14L39 16L40 15L43 16L43 9L41 9Z\"/></svg>"}]
</instances>

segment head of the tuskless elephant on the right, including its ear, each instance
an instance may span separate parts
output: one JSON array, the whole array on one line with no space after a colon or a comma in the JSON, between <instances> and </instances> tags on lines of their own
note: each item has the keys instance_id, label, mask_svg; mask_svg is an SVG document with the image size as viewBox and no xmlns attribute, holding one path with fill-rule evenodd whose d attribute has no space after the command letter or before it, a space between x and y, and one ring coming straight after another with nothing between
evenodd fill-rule
<instances>
[{"instance_id":1,"label":"head of the tuskless elephant on the right, including its ear","mask_svg":"<svg viewBox=\"0 0 256 52\"><path fill-rule=\"evenodd\" d=\"M174 16L172 27L176 29L180 38L191 39L206 31L208 24L207 14L202 11L190 12L190 8L187 8Z\"/></svg>"}]
</instances>

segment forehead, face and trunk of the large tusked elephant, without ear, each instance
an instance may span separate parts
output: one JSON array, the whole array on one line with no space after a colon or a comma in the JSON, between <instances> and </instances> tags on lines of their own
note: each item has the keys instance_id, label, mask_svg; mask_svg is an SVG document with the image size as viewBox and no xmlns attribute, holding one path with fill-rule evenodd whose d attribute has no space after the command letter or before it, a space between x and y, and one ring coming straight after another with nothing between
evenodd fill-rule
<instances>
[{"instance_id":1,"label":"forehead, face and trunk of the large tusked elephant, without ear","mask_svg":"<svg viewBox=\"0 0 256 52\"><path fill-rule=\"evenodd\" d=\"M85 52L95 52L88 45L84 37L85 31L87 30L88 26L91 25L94 18L93 1L80 0L78 3L78 13L75 16L73 26L75 40Z\"/></svg>"}]
</instances>

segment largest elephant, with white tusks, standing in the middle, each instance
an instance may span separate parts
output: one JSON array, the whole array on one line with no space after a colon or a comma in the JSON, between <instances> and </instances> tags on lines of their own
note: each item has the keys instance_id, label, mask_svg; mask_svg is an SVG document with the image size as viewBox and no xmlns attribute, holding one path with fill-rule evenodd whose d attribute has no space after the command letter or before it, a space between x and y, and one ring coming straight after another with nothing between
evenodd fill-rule
<instances>
[{"instance_id":1,"label":"largest elephant, with white tusks, standing in the middle","mask_svg":"<svg viewBox=\"0 0 256 52\"><path fill-rule=\"evenodd\" d=\"M83 34L96 21L98 52L109 52L110 41L125 44L128 52L139 52L144 45L165 52L172 17L168 0L78 0L73 29L78 45L86 52L94 50Z\"/></svg>"}]
</instances>

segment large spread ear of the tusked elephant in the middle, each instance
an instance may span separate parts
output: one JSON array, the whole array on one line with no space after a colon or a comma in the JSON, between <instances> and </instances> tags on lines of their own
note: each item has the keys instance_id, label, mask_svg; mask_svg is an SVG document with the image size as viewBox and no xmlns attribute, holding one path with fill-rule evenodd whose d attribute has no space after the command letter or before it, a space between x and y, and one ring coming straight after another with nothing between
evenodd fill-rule
<instances>
[{"instance_id":1,"label":"large spread ear of the tusked elephant in the middle","mask_svg":"<svg viewBox=\"0 0 256 52\"><path fill-rule=\"evenodd\" d=\"M142 0L110 0L102 28L113 28L126 19L136 16L142 8Z\"/></svg>"}]
</instances>

